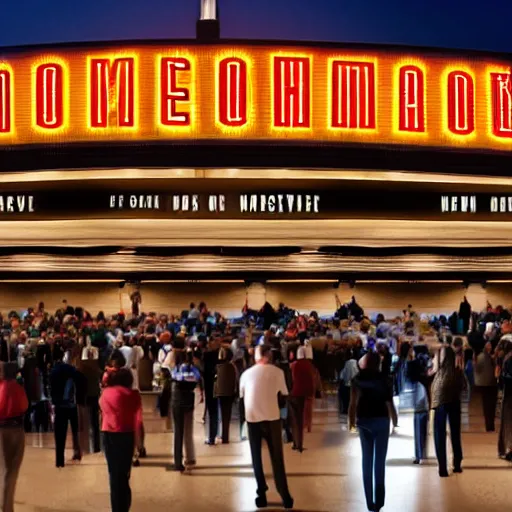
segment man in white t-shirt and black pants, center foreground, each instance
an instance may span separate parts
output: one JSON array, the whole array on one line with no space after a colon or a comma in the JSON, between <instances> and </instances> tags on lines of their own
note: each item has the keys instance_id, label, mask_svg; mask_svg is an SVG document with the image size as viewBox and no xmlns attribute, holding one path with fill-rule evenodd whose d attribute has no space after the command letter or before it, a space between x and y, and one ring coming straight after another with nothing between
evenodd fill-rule
<instances>
[{"instance_id":1,"label":"man in white t-shirt and black pants, center foreground","mask_svg":"<svg viewBox=\"0 0 512 512\"><path fill-rule=\"evenodd\" d=\"M240 398L244 401L245 417L249 431L252 465L258 484L256 506L267 506L267 483L261 458L261 444L267 441L274 471L274 481L285 509L293 508L293 498L288 490L284 467L283 439L278 395L287 396L288 388L281 369L270 364L271 348L256 348L256 364L240 378Z\"/></svg>"}]
</instances>

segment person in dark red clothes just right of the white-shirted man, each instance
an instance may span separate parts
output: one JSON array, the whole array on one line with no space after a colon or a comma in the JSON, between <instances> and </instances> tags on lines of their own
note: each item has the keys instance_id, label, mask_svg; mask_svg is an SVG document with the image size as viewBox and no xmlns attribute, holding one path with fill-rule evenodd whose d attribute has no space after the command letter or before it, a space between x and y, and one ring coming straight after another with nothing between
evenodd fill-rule
<instances>
[{"instance_id":1,"label":"person in dark red clothes just right of the white-shirted man","mask_svg":"<svg viewBox=\"0 0 512 512\"><path fill-rule=\"evenodd\" d=\"M313 363L306 359L306 349L297 349L297 361L291 365L292 390L290 410L292 415L293 449L304 451L304 409L306 400L315 396L316 375Z\"/></svg>"}]
</instances>

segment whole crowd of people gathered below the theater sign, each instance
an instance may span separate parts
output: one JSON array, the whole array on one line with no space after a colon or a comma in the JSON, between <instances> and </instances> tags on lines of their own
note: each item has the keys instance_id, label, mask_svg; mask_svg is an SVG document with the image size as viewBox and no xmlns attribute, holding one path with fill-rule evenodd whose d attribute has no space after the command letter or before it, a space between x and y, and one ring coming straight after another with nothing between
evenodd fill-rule
<instances>
[{"instance_id":1,"label":"whole crowd of people gathered below the theater sign","mask_svg":"<svg viewBox=\"0 0 512 512\"><path fill-rule=\"evenodd\" d=\"M257 481L256 505L267 505L262 441L270 451L283 505L293 507L284 443L302 452L311 431L313 403L337 386L339 412L358 432L368 510L385 500L385 461L390 423L414 411L415 464L427 458L428 423L439 476L448 476L446 427L450 424L453 471L462 472L461 403L482 399L485 428L500 417L498 454L512 461L512 322L509 311L488 305L473 312L466 298L450 316L402 315L371 319L352 297L329 318L268 302L246 302L241 316L226 319L205 303L180 315L140 313L93 316L63 302L54 314L43 303L0 318L0 507L13 510L25 432L53 431L55 463L63 468L68 426L72 461L80 461L79 431L87 425L93 452L102 448L110 475L111 507L130 509L130 474L146 456L140 392L157 392L158 408L174 434L174 464L196 464L194 408L204 401L205 443L230 442L234 405L240 439L248 438ZM499 403L499 406L498 406ZM100 419L101 417L101 419ZM102 436L100 436L100 431Z\"/></svg>"}]
</instances>

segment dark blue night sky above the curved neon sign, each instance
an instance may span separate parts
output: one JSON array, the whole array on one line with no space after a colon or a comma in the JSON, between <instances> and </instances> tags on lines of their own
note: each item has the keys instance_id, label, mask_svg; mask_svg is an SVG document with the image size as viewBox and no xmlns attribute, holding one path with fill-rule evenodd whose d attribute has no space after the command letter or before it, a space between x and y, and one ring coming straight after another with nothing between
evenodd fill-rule
<instances>
[{"instance_id":1,"label":"dark blue night sky above the curved neon sign","mask_svg":"<svg viewBox=\"0 0 512 512\"><path fill-rule=\"evenodd\" d=\"M4 0L0 46L194 37L198 0ZM223 37L511 51L512 0L220 0Z\"/></svg>"}]
</instances>

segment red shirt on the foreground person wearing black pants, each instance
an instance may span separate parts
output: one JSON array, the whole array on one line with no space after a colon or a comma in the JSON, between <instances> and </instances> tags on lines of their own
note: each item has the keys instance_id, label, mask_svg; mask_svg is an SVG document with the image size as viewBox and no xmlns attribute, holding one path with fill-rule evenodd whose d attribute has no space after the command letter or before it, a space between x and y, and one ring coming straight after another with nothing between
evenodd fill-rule
<instances>
[{"instance_id":1,"label":"red shirt on the foreground person wearing black pants","mask_svg":"<svg viewBox=\"0 0 512 512\"><path fill-rule=\"evenodd\" d=\"M101 394L101 430L103 432L138 432L142 420L140 393L123 386L111 386Z\"/></svg>"}]
</instances>

